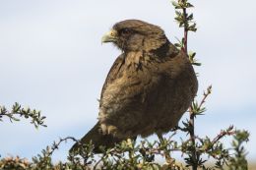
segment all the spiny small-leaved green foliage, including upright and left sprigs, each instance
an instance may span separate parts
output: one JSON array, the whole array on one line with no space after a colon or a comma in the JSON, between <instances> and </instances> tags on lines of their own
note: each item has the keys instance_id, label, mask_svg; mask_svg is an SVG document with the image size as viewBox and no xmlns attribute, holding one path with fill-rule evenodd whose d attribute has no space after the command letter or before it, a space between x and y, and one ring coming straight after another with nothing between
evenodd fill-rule
<instances>
[{"instance_id":1,"label":"all the spiny small-leaved green foliage, including upright and left sprigs","mask_svg":"<svg viewBox=\"0 0 256 170\"><path fill-rule=\"evenodd\" d=\"M196 23L193 21L193 14L188 14L187 9L193 5L188 0L173 1L172 5L176 9L175 20L180 28L183 28L184 37L175 43L175 46L188 54L191 63L200 66L195 59L196 52L188 52L188 32L197 30ZM142 140L134 142L131 140L116 144L113 148L105 149L101 147L102 154L93 152L94 145L91 143L81 143L73 137L60 139L53 142L34 156L32 161L20 157L6 157L0 160L0 169L17 170L96 170L96 169L117 169L117 170L188 170L203 169L214 170L227 168L229 170L247 169L246 151L244 142L248 142L249 133L246 131L235 130L233 126L222 130L215 138L198 137L195 130L195 119L204 115L206 111L205 102L212 92L210 85L203 93L201 100L193 101L188 112L189 119L182 122L182 125L175 127L167 138L159 137L159 141L149 142ZM16 117L20 115L25 118L32 118L35 127L45 126L40 117L40 112L31 109L24 109L16 103L12 111L7 111L5 107L0 107L0 120L7 116L10 121L19 121ZM187 139L180 141L173 140L177 135L185 134ZM224 145L224 137L232 137L233 140L229 147ZM66 162L52 163L52 154L59 148L62 142L78 142L78 150L70 152ZM178 162L173 153L181 153L181 162ZM160 163L158 157L164 162ZM179 159L180 160L180 159ZM209 163L210 162L210 163ZM214 165L213 165L214 162ZM207 166L212 163L212 166Z\"/></svg>"}]
</instances>

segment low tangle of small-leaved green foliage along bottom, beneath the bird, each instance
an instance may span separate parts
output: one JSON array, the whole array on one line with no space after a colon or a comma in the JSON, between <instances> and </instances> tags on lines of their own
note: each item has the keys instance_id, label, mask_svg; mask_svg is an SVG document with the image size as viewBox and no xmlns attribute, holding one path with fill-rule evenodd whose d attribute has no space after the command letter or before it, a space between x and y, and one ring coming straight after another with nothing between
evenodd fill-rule
<instances>
[{"instance_id":1,"label":"low tangle of small-leaved green foliage along bottom, beneath the bird","mask_svg":"<svg viewBox=\"0 0 256 170\"><path fill-rule=\"evenodd\" d=\"M188 131L176 130L188 133ZM92 143L80 143L81 149L71 152L68 155L67 162L52 163L52 153L59 148L62 142L71 140L78 142L72 137L60 139L51 146L43 149L41 154L34 156L32 162L26 158L6 157L0 160L0 169L17 169L17 170L95 170L95 169L141 169L141 170L188 170L192 166L192 158L190 151L192 149L191 142L181 141L180 143L172 140L174 133L169 138L162 138L159 142L149 142L143 140L135 143L131 140L123 141L116 144L110 149L102 148L102 154L97 155L93 152L94 145ZM225 148L221 140L225 136L233 136L232 147ZM198 167L205 170L224 169L226 165L229 170L245 170L247 169L247 161L245 159L245 150L243 142L248 141L249 134L246 131L234 131L233 127L229 127L222 131L216 138L204 139L198 138L196 146L198 155ZM180 163L171 157L174 151L182 152L185 163ZM200 155L207 154L208 158L199 158ZM164 163L160 164L156 161L156 157L164 158ZM215 166L206 167L206 162L212 157L216 160ZM212 160L211 160L212 161Z\"/></svg>"}]
</instances>

